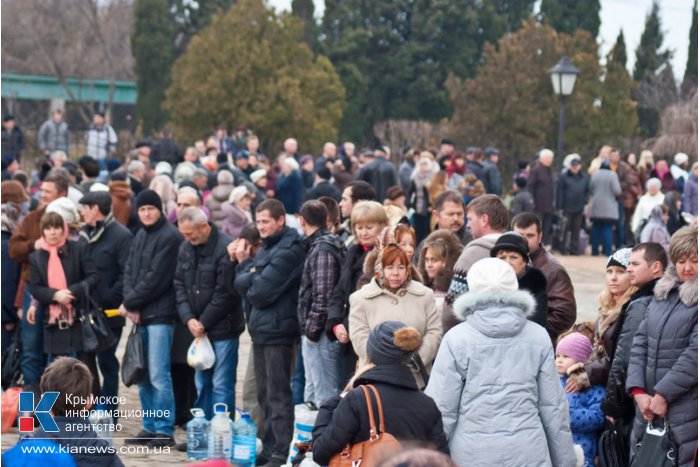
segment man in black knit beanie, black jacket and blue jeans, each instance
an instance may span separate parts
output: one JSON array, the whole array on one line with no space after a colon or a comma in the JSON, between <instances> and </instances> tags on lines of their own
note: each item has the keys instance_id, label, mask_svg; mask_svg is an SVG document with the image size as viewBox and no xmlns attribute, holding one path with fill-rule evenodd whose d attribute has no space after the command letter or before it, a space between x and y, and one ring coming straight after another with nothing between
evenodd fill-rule
<instances>
[{"instance_id":1,"label":"man in black knit beanie, black jacket and blue jeans","mask_svg":"<svg viewBox=\"0 0 700 467\"><path fill-rule=\"evenodd\" d=\"M139 382L139 397L141 408L155 413L143 417L143 429L126 443L173 446L175 399L170 349L178 319L173 278L182 236L165 219L163 202L155 191L139 193L136 209L143 228L129 251L119 312L141 325L148 376Z\"/></svg>"}]
</instances>

